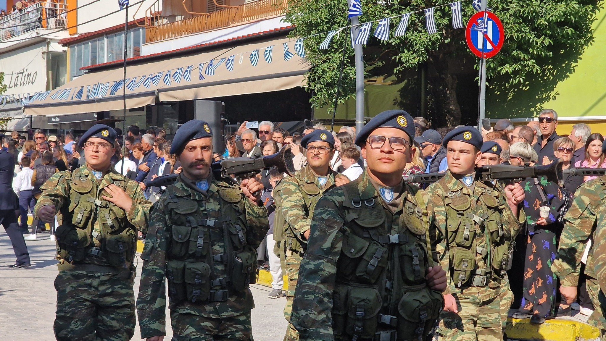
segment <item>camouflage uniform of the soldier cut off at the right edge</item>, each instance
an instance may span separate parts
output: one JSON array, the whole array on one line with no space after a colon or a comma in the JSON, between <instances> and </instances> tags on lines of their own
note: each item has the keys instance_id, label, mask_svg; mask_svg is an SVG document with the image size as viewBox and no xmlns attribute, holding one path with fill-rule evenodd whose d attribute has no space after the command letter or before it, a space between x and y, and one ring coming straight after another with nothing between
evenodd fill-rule
<instances>
[{"instance_id":1,"label":"camouflage uniform of the soldier cut off at the right edge","mask_svg":"<svg viewBox=\"0 0 606 341\"><path fill-rule=\"evenodd\" d=\"M562 286L578 286L581 274L581 259L587 247L588 240L592 240L585 275L587 276L587 293L593 303L594 311L589 323L601 329L602 339L606 340L606 319L604 319L604 297L600 293L598 283L598 265L596 255L601 231L599 214L603 212L603 202L606 198L606 176L585 182L574 194L572 205L564 216L564 230L559 240L558 254L551 265L551 270L560 279ZM594 235L595 234L595 235ZM600 300L598 294L602 299ZM602 303L601 303L602 302Z\"/></svg>"}]
</instances>

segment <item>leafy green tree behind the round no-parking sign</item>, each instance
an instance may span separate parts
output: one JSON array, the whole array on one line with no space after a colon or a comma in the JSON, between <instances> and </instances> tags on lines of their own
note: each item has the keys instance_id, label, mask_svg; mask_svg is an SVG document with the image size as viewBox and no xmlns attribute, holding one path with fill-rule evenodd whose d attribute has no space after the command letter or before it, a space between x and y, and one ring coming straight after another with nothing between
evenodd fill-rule
<instances>
[{"instance_id":1,"label":"leafy green tree behind the round no-parking sign","mask_svg":"<svg viewBox=\"0 0 606 341\"><path fill-rule=\"evenodd\" d=\"M400 17L390 22L390 39L381 41L371 35L364 47L367 76L395 76L404 86L402 101L396 105L404 110L419 101L416 93L421 86L418 70L424 70L426 79L427 117L434 127L475 123L476 117L463 118L463 99L457 94L461 70L476 71L478 59L465 44L465 30L452 27L451 0L391 2L390 0L362 0L360 22L376 21L387 16L411 15L404 36L393 37ZM491 0L488 7L501 19L505 28L502 50L487 59L487 82L499 79L498 89L513 96L524 91L536 78L565 78L573 71L585 47L593 39L591 24L601 8L599 0ZM440 6L440 7L437 7ZM422 10L436 7L438 33L428 35ZM463 1L463 21L475 13L471 1ZM345 67L339 86L339 101L344 102L355 93L355 67L349 30L333 38L328 50L319 50L325 32L348 25L346 0L289 0L288 22L296 25L292 37L307 37L305 50L311 64L308 90L314 107L332 105L338 88L341 58ZM373 28L376 24L373 24ZM565 58L561 58L562 55ZM554 65L557 60L558 65ZM469 72L468 72L469 74ZM550 83L551 84L551 83ZM550 93L552 88L546 88ZM477 102L477 86L473 93L465 93L466 102ZM474 98L468 98L474 96ZM546 96L547 97L547 96ZM547 98L545 98L547 101ZM474 107L477 113L477 104ZM473 110L471 110L473 111ZM413 114L414 116L414 114Z\"/></svg>"}]
</instances>

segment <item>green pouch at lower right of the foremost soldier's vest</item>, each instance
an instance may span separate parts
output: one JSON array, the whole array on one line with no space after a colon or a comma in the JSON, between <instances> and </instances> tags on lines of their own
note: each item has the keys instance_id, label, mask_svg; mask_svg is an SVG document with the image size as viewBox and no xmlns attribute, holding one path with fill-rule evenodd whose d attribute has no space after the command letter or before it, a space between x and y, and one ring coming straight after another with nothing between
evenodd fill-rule
<instances>
[{"instance_id":1,"label":"green pouch at lower right of the foremost soldier's vest","mask_svg":"<svg viewBox=\"0 0 606 341\"><path fill-rule=\"evenodd\" d=\"M402 290L405 293L398 303L398 341L425 340L442 310L442 294L426 286Z\"/></svg>"}]
</instances>

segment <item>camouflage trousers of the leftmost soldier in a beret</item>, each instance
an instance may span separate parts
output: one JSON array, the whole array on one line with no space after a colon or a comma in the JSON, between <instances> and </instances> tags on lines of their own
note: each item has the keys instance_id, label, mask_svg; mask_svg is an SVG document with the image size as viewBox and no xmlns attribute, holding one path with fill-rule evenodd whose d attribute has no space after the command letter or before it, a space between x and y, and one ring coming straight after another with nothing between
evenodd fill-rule
<instances>
[{"instance_id":1,"label":"camouflage trousers of the leftmost soldier in a beret","mask_svg":"<svg viewBox=\"0 0 606 341\"><path fill-rule=\"evenodd\" d=\"M59 271L55 279L59 341L125 341L135 334L133 273Z\"/></svg>"}]
</instances>

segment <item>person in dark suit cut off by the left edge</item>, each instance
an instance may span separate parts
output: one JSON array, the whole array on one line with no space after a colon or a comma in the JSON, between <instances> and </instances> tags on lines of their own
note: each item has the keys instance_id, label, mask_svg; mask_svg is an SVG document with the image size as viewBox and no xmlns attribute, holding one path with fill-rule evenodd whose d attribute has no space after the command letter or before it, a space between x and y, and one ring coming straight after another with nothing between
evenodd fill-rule
<instances>
[{"instance_id":1,"label":"person in dark suit cut off by the left edge","mask_svg":"<svg viewBox=\"0 0 606 341\"><path fill-rule=\"evenodd\" d=\"M0 146L4 145L4 134L0 134ZM0 225L6 230L17 260L9 268L27 268L31 265L30 254L23 234L19 230L15 210L19 208L17 197L13 191L13 176L15 175L15 161L13 156L0 148Z\"/></svg>"}]
</instances>

